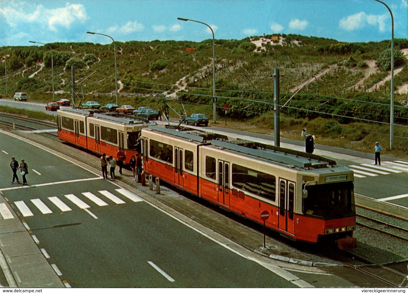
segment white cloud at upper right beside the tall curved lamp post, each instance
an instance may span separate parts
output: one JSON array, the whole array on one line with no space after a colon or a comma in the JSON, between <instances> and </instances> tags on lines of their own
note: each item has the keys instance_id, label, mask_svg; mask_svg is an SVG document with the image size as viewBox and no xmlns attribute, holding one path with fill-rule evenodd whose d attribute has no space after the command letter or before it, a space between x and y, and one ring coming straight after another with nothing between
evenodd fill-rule
<instances>
[{"instance_id":1,"label":"white cloud at upper right beside the tall curved lamp post","mask_svg":"<svg viewBox=\"0 0 408 293\"><path fill-rule=\"evenodd\" d=\"M385 20L388 18L388 14L383 15L367 15L364 11L355 13L353 15L347 16L347 18L342 18L339 21L339 27L345 29L346 31L355 31L362 29L366 24L371 26L377 26L379 31L383 33L386 31Z\"/></svg>"}]
</instances>

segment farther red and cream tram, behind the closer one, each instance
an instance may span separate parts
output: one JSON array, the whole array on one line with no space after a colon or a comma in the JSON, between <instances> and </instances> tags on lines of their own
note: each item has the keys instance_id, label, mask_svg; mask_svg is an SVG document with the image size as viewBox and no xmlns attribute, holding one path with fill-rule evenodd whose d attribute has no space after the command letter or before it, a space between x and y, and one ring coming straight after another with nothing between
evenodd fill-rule
<instances>
[{"instance_id":1,"label":"farther red and cream tram, behind the closer one","mask_svg":"<svg viewBox=\"0 0 408 293\"><path fill-rule=\"evenodd\" d=\"M112 155L116 160L118 148L126 155L126 163L140 149L142 128L155 122L93 113L77 109L57 111L58 138L95 153Z\"/></svg>"}]
</instances>

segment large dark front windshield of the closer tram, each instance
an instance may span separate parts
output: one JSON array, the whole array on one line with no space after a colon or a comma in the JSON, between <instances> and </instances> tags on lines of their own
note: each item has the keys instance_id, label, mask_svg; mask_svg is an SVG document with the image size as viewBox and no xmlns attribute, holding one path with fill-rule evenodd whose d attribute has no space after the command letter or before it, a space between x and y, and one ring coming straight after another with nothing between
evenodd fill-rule
<instances>
[{"instance_id":1,"label":"large dark front windshield of the closer tram","mask_svg":"<svg viewBox=\"0 0 408 293\"><path fill-rule=\"evenodd\" d=\"M353 182L306 186L302 211L305 215L338 218L355 215Z\"/></svg>"}]
</instances>

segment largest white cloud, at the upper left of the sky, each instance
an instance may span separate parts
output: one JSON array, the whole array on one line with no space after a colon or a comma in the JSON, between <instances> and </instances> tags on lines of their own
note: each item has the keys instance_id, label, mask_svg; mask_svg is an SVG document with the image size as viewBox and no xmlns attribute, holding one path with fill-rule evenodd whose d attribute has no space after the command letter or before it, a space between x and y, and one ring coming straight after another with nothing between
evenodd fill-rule
<instances>
[{"instance_id":1,"label":"largest white cloud, at the upper left of the sky","mask_svg":"<svg viewBox=\"0 0 408 293\"><path fill-rule=\"evenodd\" d=\"M69 28L73 22L84 22L88 16L82 4L65 3L65 7L45 9L41 4L31 5L29 2L9 2L8 7L0 8L7 23L16 27L20 23L33 23L48 26L51 31L57 31L58 26Z\"/></svg>"}]
</instances>

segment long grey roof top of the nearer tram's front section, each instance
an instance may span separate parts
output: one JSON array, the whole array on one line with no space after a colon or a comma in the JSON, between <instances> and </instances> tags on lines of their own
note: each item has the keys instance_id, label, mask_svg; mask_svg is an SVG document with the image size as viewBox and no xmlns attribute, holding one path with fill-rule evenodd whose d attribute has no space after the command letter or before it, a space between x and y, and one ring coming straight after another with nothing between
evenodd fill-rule
<instances>
[{"instance_id":1,"label":"long grey roof top of the nearer tram's front section","mask_svg":"<svg viewBox=\"0 0 408 293\"><path fill-rule=\"evenodd\" d=\"M274 147L268 144L262 144L259 142L252 142L248 140L235 140L229 142L213 140L211 144L223 149L244 153L246 155L252 155L257 158L271 160L289 167L308 169L321 168L327 165L336 165L336 162L334 160L330 160L319 155L313 155L281 147Z\"/></svg>"}]
</instances>

